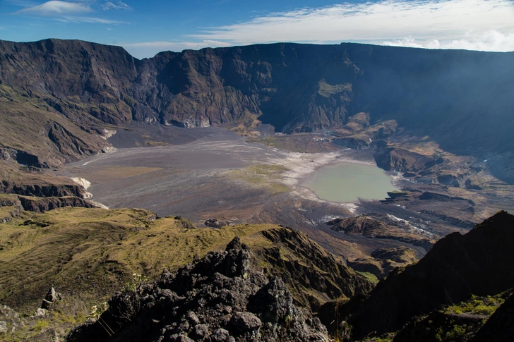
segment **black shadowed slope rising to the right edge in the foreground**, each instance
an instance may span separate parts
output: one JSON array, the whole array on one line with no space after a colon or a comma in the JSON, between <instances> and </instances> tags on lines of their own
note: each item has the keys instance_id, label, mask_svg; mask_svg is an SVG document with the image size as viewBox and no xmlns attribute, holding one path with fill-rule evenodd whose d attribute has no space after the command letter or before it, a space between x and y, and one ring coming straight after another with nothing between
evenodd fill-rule
<instances>
[{"instance_id":1,"label":"black shadowed slope rising to the right edge in the foreground","mask_svg":"<svg viewBox=\"0 0 514 342\"><path fill-rule=\"evenodd\" d=\"M354 338L395 331L414 316L472 294L496 295L512 288L513 227L514 216L498 212L463 236L452 233L439 240L417 264L378 283L360 305L350 300Z\"/></svg>"}]
</instances>

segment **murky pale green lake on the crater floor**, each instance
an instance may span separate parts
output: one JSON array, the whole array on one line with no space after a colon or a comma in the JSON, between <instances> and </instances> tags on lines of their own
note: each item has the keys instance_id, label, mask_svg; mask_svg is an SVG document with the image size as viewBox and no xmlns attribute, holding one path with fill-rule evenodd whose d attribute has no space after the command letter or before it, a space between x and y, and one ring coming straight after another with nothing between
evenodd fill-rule
<instances>
[{"instance_id":1,"label":"murky pale green lake on the crater floor","mask_svg":"<svg viewBox=\"0 0 514 342\"><path fill-rule=\"evenodd\" d=\"M344 163L325 166L314 172L301 185L330 202L383 200L388 191L398 190L392 178L374 165Z\"/></svg>"}]
</instances>

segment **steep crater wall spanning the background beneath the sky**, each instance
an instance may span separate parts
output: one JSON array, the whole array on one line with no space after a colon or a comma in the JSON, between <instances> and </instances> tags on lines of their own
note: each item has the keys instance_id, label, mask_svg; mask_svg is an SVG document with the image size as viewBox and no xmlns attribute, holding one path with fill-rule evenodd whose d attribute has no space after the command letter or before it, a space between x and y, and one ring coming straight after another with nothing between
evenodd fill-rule
<instances>
[{"instance_id":1,"label":"steep crater wall spanning the background beneath the sky","mask_svg":"<svg viewBox=\"0 0 514 342\"><path fill-rule=\"evenodd\" d=\"M512 75L514 53L280 43L140 61L78 40L0 41L0 149L60 166L107 149L106 125L260 121L298 133L364 111L450 151L514 152Z\"/></svg>"}]
</instances>

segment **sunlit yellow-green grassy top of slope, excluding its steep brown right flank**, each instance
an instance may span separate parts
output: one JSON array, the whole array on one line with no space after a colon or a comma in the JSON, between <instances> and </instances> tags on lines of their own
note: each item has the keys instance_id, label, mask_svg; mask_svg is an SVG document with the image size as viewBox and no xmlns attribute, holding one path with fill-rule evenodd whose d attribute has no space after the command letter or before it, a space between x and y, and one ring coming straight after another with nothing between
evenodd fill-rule
<instances>
[{"instance_id":1,"label":"sunlit yellow-green grassy top of slope, excluding its steep brown right flank","mask_svg":"<svg viewBox=\"0 0 514 342\"><path fill-rule=\"evenodd\" d=\"M152 277L225 248L240 236L269 245L258 231L273 225L184 228L171 217L151 220L141 209L61 208L0 225L0 303L35 310L52 284L86 303L112 295L133 273Z\"/></svg>"}]
</instances>

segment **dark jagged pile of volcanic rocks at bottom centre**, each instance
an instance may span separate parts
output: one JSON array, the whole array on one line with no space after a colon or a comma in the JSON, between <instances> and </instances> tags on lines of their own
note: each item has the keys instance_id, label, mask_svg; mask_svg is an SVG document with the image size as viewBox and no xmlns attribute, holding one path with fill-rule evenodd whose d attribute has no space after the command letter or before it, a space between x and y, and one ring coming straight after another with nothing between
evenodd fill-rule
<instances>
[{"instance_id":1,"label":"dark jagged pile of volcanic rocks at bottom centre","mask_svg":"<svg viewBox=\"0 0 514 342\"><path fill-rule=\"evenodd\" d=\"M96 322L68 341L319 341L325 327L293 305L278 277L268 281L234 238L155 283L119 293Z\"/></svg>"}]
</instances>

